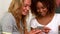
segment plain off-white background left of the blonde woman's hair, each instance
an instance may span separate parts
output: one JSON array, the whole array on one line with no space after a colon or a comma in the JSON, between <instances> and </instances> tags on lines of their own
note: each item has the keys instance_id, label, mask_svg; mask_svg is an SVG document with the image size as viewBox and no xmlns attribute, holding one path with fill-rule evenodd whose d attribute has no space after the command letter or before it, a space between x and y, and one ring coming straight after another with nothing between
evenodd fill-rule
<instances>
[{"instance_id":1,"label":"plain off-white background left of the blonde woman's hair","mask_svg":"<svg viewBox=\"0 0 60 34\"><path fill-rule=\"evenodd\" d=\"M0 0L0 20L3 17L4 13L8 11L8 7L12 0Z\"/></svg>"}]
</instances>

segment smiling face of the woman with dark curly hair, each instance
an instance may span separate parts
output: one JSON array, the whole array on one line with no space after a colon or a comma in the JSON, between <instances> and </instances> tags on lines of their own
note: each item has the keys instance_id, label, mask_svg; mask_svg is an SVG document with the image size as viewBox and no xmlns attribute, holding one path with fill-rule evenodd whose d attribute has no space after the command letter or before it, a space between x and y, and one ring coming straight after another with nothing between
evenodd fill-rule
<instances>
[{"instance_id":1,"label":"smiling face of the woman with dark curly hair","mask_svg":"<svg viewBox=\"0 0 60 34\"><path fill-rule=\"evenodd\" d=\"M41 2L37 2L37 12L41 15L41 16L45 16L47 14L47 8L43 5L43 3Z\"/></svg>"}]
</instances>

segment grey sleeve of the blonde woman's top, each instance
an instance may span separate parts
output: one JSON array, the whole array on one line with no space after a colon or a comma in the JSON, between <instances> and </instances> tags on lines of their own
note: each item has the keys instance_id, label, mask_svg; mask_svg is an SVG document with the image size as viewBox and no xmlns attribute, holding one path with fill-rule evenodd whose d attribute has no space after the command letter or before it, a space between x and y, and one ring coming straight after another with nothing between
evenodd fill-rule
<instances>
[{"instance_id":1,"label":"grey sleeve of the blonde woman's top","mask_svg":"<svg viewBox=\"0 0 60 34\"><path fill-rule=\"evenodd\" d=\"M8 15L5 15L2 20L1 20L1 23L2 23L2 33L10 33L12 34L12 28L13 28L13 25L12 25L12 16L10 14Z\"/></svg>"}]
</instances>

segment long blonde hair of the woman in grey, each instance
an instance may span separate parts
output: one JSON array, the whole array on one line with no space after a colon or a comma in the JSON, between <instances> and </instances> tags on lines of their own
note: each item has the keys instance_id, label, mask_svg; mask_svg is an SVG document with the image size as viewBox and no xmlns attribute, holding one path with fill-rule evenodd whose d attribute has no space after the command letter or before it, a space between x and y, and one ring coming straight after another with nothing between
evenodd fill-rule
<instances>
[{"instance_id":1,"label":"long blonde hair of the woman in grey","mask_svg":"<svg viewBox=\"0 0 60 34\"><path fill-rule=\"evenodd\" d=\"M26 29L26 21L25 21L25 17L21 16L21 8L23 6L23 1L24 0L12 0L10 7L9 7L9 12L12 13L12 15L14 16L15 20L16 20L16 25L18 27L18 30L20 32L22 32L22 28L20 27L20 20L23 23L24 26L24 30ZM20 13L19 13L20 12ZM22 18L21 18L22 17ZM22 33L21 33L22 34Z\"/></svg>"}]
</instances>

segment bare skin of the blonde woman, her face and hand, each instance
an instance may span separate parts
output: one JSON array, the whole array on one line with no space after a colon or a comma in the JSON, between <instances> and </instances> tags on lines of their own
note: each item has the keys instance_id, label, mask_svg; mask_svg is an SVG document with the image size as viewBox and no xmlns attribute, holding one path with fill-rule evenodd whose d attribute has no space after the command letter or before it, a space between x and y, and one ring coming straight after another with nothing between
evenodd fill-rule
<instances>
[{"instance_id":1,"label":"bare skin of the blonde woman, her face and hand","mask_svg":"<svg viewBox=\"0 0 60 34\"><path fill-rule=\"evenodd\" d=\"M30 10L30 5L31 5L31 0L24 0L24 6L23 6L23 11L22 14L23 15L28 15L29 10ZM39 33L41 34L41 30L31 30L30 32L27 32L27 30L25 31L25 34L36 34Z\"/></svg>"}]
</instances>

